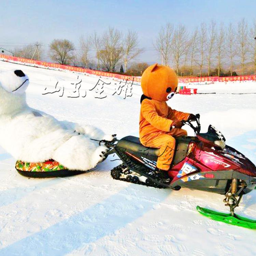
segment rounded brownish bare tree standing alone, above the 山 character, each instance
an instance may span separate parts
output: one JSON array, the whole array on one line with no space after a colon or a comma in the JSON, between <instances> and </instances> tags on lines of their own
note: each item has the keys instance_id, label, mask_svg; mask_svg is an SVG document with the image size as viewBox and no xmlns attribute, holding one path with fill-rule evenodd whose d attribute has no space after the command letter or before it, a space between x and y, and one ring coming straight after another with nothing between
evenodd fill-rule
<instances>
[{"instance_id":1,"label":"rounded brownish bare tree standing alone, above the \u5c71 character","mask_svg":"<svg viewBox=\"0 0 256 256\"><path fill-rule=\"evenodd\" d=\"M69 65L75 58L74 45L67 39L54 39L50 44L50 58L62 65Z\"/></svg>"}]
</instances>

